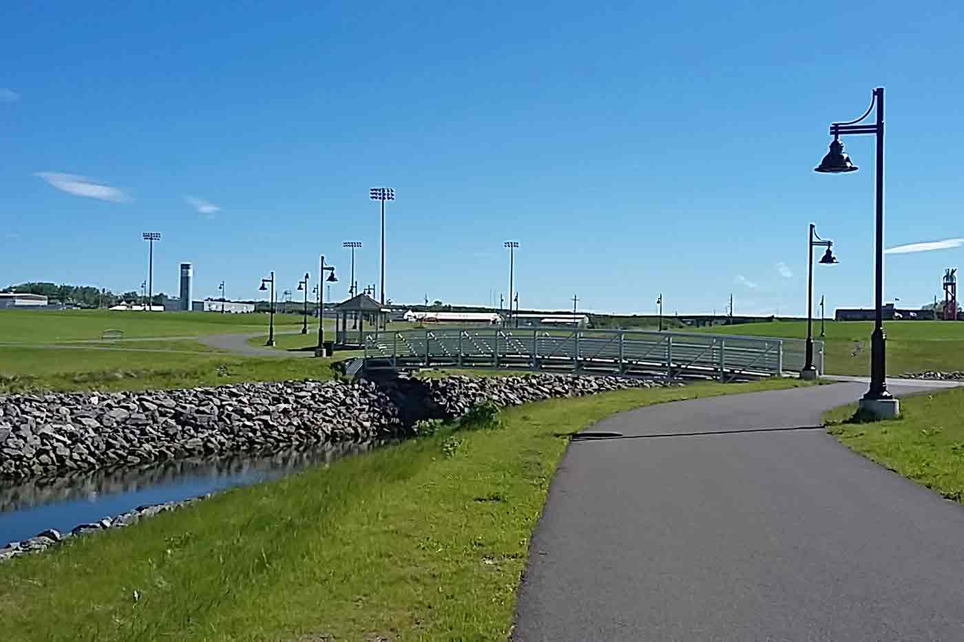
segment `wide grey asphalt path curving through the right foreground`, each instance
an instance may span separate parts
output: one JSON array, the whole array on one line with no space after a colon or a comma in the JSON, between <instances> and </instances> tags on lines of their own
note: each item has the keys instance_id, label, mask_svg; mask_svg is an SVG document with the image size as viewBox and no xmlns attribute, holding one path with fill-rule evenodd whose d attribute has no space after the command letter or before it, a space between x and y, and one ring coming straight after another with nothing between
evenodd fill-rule
<instances>
[{"instance_id":1,"label":"wide grey asphalt path curving through the right foreground","mask_svg":"<svg viewBox=\"0 0 964 642\"><path fill-rule=\"evenodd\" d=\"M594 426L622 437L570 445L513 639L964 639L964 509L820 427L865 390L698 399Z\"/></svg>"}]
</instances>

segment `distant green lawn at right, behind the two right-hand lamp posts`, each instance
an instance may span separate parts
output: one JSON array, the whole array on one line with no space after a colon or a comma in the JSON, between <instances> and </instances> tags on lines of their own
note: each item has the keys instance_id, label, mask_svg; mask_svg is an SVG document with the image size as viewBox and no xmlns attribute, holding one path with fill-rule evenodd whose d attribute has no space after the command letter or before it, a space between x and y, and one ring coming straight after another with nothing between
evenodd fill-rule
<instances>
[{"instance_id":1,"label":"distant green lawn at right, behind the two right-hand lamp posts","mask_svg":"<svg viewBox=\"0 0 964 642\"><path fill-rule=\"evenodd\" d=\"M922 370L964 370L964 323L955 321L887 321L887 374L894 377ZM694 332L806 338L806 321L773 321L714 326ZM824 365L827 374L870 373L871 321L827 321ZM814 323L819 339L820 323ZM858 349L858 343L862 343Z\"/></svg>"}]
</instances>

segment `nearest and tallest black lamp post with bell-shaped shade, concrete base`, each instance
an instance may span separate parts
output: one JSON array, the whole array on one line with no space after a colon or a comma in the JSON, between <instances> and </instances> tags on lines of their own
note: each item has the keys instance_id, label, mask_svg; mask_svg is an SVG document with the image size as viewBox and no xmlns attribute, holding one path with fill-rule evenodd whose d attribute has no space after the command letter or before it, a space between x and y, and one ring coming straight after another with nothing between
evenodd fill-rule
<instances>
[{"instance_id":1,"label":"nearest and tallest black lamp post with bell-shaped shade, concrete base","mask_svg":"<svg viewBox=\"0 0 964 642\"><path fill-rule=\"evenodd\" d=\"M876 107L876 121L873 124L860 124L870 116ZM900 413L900 405L894 395L887 390L887 335L884 334L884 88L873 90L870 107L856 120L832 122L830 133L834 140L830 151L815 168L822 174L844 174L856 172L857 166L850 162L840 142L842 134L873 134L877 142L876 158L876 242L874 278L874 327L870 335L870 389L860 400L860 409L878 418L886 419Z\"/></svg>"}]
</instances>

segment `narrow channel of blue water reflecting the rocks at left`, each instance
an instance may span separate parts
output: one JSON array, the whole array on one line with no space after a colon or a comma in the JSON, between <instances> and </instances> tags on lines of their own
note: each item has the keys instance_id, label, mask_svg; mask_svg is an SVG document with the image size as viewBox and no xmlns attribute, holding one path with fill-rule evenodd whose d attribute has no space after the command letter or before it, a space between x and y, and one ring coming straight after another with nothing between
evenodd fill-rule
<instances>
[{"instance_id":1,"label":"narrow channel of blue water reflecting the rocks at left","mask_svg":"<svg viewBox=\"0 0 964 642\"><path fill-rule=\"evenodd\" d=\"M147 467L101 469L40 478L22 484L0 482L0 548L46 528L69 532L138 506L187 499L234 486L277 479L312 466L362 453L385 441L346 441L272 454L229 455L165 462Z\"/></svg>"}]
</instances>

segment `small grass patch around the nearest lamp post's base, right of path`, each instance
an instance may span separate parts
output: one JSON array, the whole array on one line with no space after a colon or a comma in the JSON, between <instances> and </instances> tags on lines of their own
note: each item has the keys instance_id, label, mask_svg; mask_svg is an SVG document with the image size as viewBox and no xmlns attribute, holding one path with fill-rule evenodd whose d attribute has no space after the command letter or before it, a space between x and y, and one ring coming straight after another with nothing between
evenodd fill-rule
<instances>
[{"instance_id":1,"label":"small grass patch around the nearest lamp post's base, right of path","mask_svg":"<svg viewBox=\"0 0 964 642\"><path fill-rule=\"evenodd\" d=\"M964 388L905 397L901 417L847 423L856 404L828 413L829 432L881 466L941 495L964 499Z\"/></svg>"}]
</instances>

